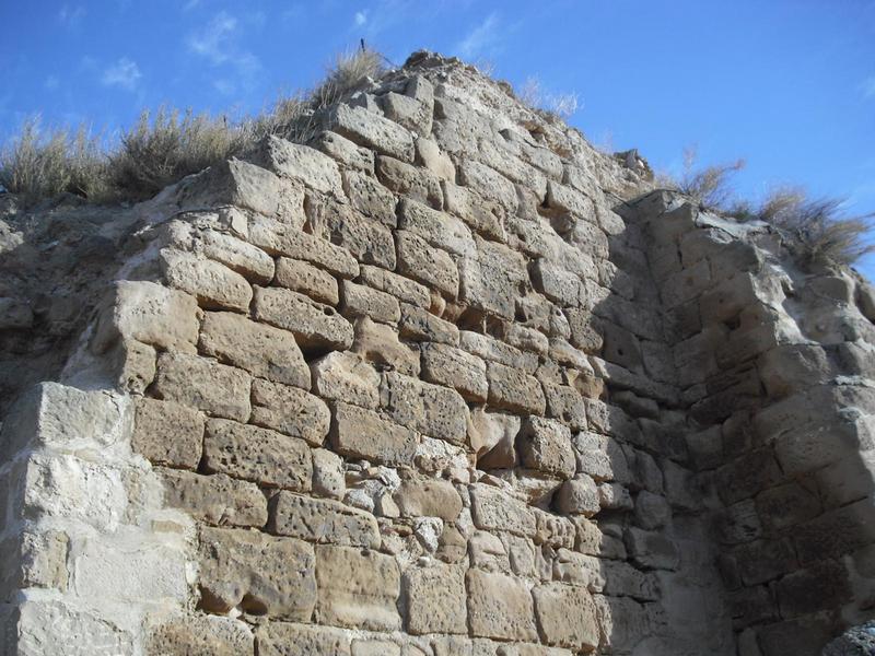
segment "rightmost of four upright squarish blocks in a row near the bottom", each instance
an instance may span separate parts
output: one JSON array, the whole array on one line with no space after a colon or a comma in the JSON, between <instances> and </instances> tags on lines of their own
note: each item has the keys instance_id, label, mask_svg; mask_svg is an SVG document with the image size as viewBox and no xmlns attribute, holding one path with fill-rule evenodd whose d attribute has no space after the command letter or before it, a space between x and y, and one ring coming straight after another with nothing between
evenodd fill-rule
<instances>
[{"instance_id":1,"label":"rightmost of four upright squarish blocks in a row near the bottom","mask_svg":"<svg viewBox=\"0 0 875 656\"><path fill-rule=\"evenodd\" d=\"M540 634L549 645L575 651L598 646L598 622L585 588L547 583L532 590Z\"/></svg>"}]
</instances>

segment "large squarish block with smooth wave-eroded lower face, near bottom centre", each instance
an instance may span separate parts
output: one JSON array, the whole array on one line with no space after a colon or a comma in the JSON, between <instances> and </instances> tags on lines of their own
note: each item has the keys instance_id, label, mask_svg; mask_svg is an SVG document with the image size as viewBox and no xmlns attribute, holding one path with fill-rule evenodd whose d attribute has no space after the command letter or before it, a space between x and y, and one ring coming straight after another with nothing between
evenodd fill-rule
<instances>
[{"instance_id":1,"label":"large squarish block with smooth wave-eroded lower face, near bottom centre","mask_svg":"<svg viewBox=\"0 0 875 656\"><path fill-rule=\"evenodd\" d=\"M395 559L347 547L316 547L318 621L340 626L395 631L400 573Z\"/></svg>"}]
</instances>

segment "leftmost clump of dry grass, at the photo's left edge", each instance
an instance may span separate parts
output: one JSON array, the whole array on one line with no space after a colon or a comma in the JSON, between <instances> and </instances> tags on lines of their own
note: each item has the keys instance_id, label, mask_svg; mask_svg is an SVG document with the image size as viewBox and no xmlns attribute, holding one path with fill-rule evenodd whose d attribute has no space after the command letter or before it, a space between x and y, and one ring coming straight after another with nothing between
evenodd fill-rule
<instances>
[{"instance_id":1,"label":"leftmost clump of dry grass, at the photo's left edge","mask_svg":"<svg viewBox=\"0 0 875 656\"><path fill-rule=\"evenodd\" d=\"M40 130L39 118L25 121L21 134L0 151L0 185L25 204L68 192L101 198L106 188L106 157L100 138L81 126Z\"/></svg>"}]
</instances>

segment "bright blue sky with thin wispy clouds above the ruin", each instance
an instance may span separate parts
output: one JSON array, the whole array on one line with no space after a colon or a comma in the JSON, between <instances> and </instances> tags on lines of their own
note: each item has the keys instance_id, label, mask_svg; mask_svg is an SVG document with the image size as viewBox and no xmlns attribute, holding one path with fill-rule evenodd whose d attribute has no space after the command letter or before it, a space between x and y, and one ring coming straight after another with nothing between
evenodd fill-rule
<instances>
[{"instance_id":1,"label":"bright blue sky with thin wispy clouds above the ruin","mask_svg":"<svg viewBox=\"0 0 875 656\"><path fill-rule=\"evenodd\" d=\"M142 107L253 113L365 38L576 93L591 141L679 171L744 157L778 184L875 210L873 0L0 0L0 141L35 113L108 134ZM875 259L861 267L875 278Z\"/></svg>"}]
</instances>

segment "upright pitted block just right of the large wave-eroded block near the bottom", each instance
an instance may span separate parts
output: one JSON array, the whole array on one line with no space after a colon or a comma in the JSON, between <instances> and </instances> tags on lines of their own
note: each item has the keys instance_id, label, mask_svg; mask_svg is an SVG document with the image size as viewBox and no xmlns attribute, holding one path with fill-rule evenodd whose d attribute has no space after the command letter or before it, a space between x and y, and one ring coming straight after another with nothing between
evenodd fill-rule
<instances>
[{"instance_id":1,"label":"upright pitted block just right of the large wave-eroded block near the bottom","mask_svg":"<svg viewBox=\"0 0 875 656\"><path fill-rule=\"evenodd\" d=\"M402 585L409 633L468 633L464 569L410 567Z\"/></svg>"}]
</instances>

